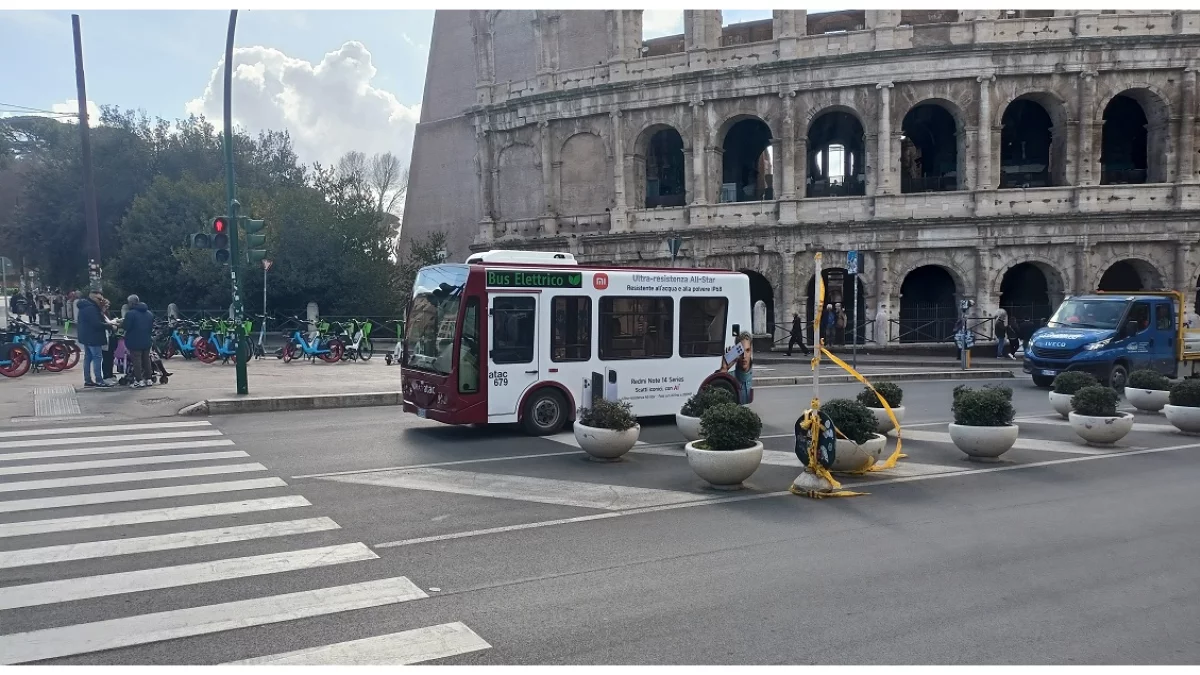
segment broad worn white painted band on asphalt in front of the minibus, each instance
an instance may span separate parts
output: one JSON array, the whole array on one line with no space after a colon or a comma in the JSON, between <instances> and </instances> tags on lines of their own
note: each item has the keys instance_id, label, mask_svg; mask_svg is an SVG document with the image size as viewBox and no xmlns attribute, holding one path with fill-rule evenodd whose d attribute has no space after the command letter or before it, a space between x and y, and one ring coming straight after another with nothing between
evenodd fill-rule
<instances>
[{"instance_id":1,"label":"broad worn white painted band on asphalt in front of the minibus","mask_svg":"<svg viewBox=\"0 0 1200 675\"><path fill-rule=\"evenodd\" d=\"M325 480L607 510L712 498L698 492L440 468L388 471L365 476L326 478Z\"/></svg>"}]
</instances>

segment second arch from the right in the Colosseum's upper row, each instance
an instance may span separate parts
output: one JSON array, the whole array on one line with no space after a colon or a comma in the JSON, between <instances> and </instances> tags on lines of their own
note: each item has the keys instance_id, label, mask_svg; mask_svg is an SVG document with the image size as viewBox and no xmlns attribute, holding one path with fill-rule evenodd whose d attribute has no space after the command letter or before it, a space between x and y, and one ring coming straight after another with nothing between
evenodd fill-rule
<instances>
[{"instance_id":1,"label":"second arch from the right in the Colosseum's upper row","mask_svg":"<svg viewBox=\"0 0 1200 675\"><path fill-rule=\"evenodd\" d=\"M1030 113L1036 117L1038 108L1044 119L1031 120ZM1067 102L1057 92L1044 89L1018 92L998 106L992 120L995 129L998 129L992 138L992 157L996 157L994 171L998 173L995 185L1001 190L1067 185L1070 156L1068 119ZM1032 130L1028 129L1031 124L1034 126ZM1045 138L1037 138L1039 136ZM1044 149L1040 147L1043 141L1046 142ZM1021 147L1013 147L1018 143Z\"/></svg>"}]
</instances>

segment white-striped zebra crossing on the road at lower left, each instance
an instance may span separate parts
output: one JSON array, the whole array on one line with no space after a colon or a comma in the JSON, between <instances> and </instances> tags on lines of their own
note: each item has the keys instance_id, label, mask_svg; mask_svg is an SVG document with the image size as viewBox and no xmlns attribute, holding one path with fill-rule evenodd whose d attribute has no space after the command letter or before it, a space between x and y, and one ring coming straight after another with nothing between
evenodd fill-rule
<instances>
[{"instance_id":1,"label":"white-striped zebra crossing on the road at lower left","mask_svg":"<svg viewBox=\"0 0 1200 675\"><path fill-rule=\"evenodd\" d=\"M372 573L370 546L289 492L206 420L0 432L0 664L402 613L428 597ZM353 583L328 583L343 571ZM287 592L264 593L271 578ZM462 622L355 637L236 663L410 664L491 649Z\"/></svg>"}]
</instances>

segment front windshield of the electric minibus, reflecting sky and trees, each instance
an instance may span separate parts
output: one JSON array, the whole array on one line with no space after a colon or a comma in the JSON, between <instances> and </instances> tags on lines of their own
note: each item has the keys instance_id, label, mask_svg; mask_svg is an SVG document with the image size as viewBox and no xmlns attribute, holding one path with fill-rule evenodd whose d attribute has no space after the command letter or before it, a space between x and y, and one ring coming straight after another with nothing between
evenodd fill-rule
<instances>
[{"instance_id":1,"label":"front windshield of the electric minibus, reflecting sky and trees","mask_svg":"<svg viewBox=\"0 0 1200 675\"><path fill-rule=\"evenodd\" d=\"M454 369L455 330L458 306L467 286L467 265L448 264L424 268L413 283L413 304L408 310L408 368L450 375Z\"/></svg>"}]
</instances>

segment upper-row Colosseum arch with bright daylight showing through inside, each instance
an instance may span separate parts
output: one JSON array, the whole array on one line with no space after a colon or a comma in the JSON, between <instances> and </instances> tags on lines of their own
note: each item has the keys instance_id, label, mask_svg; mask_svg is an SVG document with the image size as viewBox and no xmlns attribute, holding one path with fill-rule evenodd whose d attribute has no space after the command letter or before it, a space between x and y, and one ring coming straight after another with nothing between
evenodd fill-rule
<instances>
[{"instance_id":1,"label":"upper-row Colosseum arch with bright daylight showing through inside","mask_svg":"<svg viewBox=\"0 0 1200 675\"><path fill-rule=\"evenodd\" d=\"M805 180L805 196L866 195L868 150L863 115L850 106L832 104L811 110L806 118L804 161L809 178ZM838 157L841 157L841 171L834 172Z\"/></svg>"}]
</instances>

